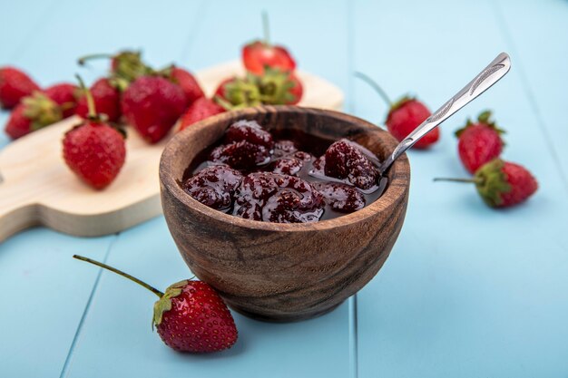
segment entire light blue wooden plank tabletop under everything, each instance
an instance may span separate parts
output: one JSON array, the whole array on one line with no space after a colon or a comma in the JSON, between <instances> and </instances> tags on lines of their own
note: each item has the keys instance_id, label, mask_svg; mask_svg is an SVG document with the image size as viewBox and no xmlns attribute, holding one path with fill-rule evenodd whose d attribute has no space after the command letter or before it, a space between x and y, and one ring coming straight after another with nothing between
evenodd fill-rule
<instances>
[{"instance_id":1,"label":"entire light blue wooden plank tabletop under everything","mask_svg":"<svg viewBox=\"0 0 568 378\"><path fill-rule=\"evenodd\" d=\"M0 245L0 376L568 375L568 2L2 0L0 65L48 84L72 79L82 53L132 46L152 63L200 69L237 57L260 34L261 9L299 66L336 82L346 111L372 121L385 106L354 70L436 108L496 53L511 53L513 69L442 126L433 150L410 153L397 245L333 313L291 325L235 315L240 340L230 351L176 354L150 330L151 294L71 258L103 259L161 287L191 276L163 218L97 238L35 228ZM93 79L104 68L81 73ZM432 182L465 175L452 132L487 107L509 131L504 158L541 183L506 211L485 208L473 188Z\"/></svg>"}]
</instances>

